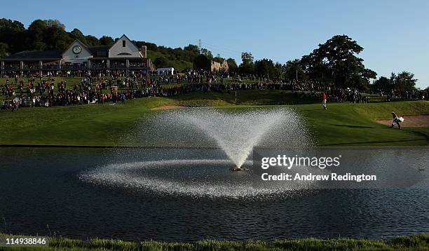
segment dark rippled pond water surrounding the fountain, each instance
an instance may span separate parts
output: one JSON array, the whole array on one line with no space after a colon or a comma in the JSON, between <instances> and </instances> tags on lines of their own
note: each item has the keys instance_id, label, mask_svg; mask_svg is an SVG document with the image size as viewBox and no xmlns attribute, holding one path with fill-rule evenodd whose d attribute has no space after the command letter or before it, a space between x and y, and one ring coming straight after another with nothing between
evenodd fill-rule
<instances>
[{"instance_id":1,"label":"dark rippled pond water surrounding the fountain","mask_svg":"<svg viewBox=\"0 0 429 251\"><path fill-rule=\"evenodd\" d=\"M182 188L177 185L179 194L82 179L86 172L111 163L189 156L226 158L216 149L0 149L0 218L6 220L6 226L0 224L1 232L125 240L385 238L429 232L427 187L307 190L236 198L193 196L191 189L186 190L192 179ZM219 170L221 177L229 174L225 170ZM135 172L154 179L160 176L151 170ZM169 175L174 180L181 172L165 172ZM210 175L210 171L198 172L198 177Z\"/></svg>"}]
</instances>

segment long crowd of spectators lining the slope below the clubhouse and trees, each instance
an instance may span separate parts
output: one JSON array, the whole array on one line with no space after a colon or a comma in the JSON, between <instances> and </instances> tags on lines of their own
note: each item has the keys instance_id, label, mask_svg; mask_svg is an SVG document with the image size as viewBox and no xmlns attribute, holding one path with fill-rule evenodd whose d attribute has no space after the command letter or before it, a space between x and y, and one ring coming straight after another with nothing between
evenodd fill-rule
<instances>
[{"instance_id":1,"label":"long crowd of spectators lining the slope below the clubhouse and trees","mask_svg":"<svg viewBox=\"0 0 429 251\"><path fill-rule=\"evenodd\" d=\"M230 79L229 81L224 81ZM231 81L233 79L233 81ZM107 102L125 102L140 97L168 97L196 91L227 92L236 90L291 90L292 95L302 99L318 98L320 93L327 95L329 102L368 103L370 96L353 88L336 88L333 83L319 81L268 81L255 76L228 76L211 72L198 73L189 71L186 74L172 76L154 76L130 74L121 76L88 76L79 83L55 81L53 76L29 77L18 76L6 78L0 85L2 110L15 111L19 107L51 107L80 104L104 104ZM371 94L402 100L428 100L428 90L378 90Z\"/></svg>"}]
</instances>

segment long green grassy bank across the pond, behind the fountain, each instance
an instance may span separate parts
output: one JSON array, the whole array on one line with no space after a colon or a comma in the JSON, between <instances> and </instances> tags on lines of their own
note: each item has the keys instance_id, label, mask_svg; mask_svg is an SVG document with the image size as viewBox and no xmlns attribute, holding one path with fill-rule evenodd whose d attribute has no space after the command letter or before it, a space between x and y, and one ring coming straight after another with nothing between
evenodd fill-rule
<instances>
[{"instance_id":1,"label":"long green grassy bank across the pond, behind the fountain","mask_svg":"<svg viewBox=\"0 0 429 251\"><path fill-rule=\"evenodd\" d=\"M295 104L311 129L315 144L324 146L425 146L429 128L391 129L376 123L376 118L429 114L429 102L392 102L374 104L299 104L297 97L275 90L241 90L235 93L189 93L177 97L149 97L125 104L90 104L72 107L29 107L15 112L0 112L0 144L128 145L123 135L135 124L163 111L151 110L163 104L223 109L264 109L266 105ZM314 100L313 102L317 102ZM301 102L302 103L302 102ZM287 121L285 121L287 123ZM162 147L162 145L158 145Z\"/></svg>"}]
</instances>

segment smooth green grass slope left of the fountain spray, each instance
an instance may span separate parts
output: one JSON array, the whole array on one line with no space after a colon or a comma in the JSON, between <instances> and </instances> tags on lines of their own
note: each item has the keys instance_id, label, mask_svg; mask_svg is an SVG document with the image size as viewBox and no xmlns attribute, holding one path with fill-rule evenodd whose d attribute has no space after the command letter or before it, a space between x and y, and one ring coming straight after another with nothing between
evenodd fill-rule
<instances>
[{"instance_id":1,"label":"smooth green grass slope left of the fountain spray","mask_svg":"<svg viewBox=\"0 0 429 251\"><path fill-rule=\"evenodd\" d=\"M125 104L74 107L29 107L0 114L1 144L102 145L118 144L121 135L149 110L165 100L148 98Z\"/></svg>"}]
</instances>

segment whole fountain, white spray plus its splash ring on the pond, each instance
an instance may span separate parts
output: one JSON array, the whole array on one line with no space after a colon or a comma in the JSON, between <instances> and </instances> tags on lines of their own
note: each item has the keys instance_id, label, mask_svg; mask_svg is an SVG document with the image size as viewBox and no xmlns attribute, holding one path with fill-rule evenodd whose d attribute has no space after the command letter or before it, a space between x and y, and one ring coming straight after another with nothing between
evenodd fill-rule
<instances>
[{"instance_id":1,"label":"whole fountain, white spray plus its splash ring on the pond","mask_svg":"<svg viewBox=\"0 0 429 251\"><path fill-rule=\"evenodd\" d=\"M190 196L247 197L282 194L292 184L261 184L247 170L253 147L299 149L311 144L308 131L292 109L177 109L142 121L124 138L142 150L118 149L116 163L81 175L108 186ZM154 146L148 149L147 146ZM225 158L226 157L226 158ZM130 161L135 160L135 161ZM241 174L240 174L241 173ZM306 185L306 184L304 184Z\"/></svg>"}]
</instances>

